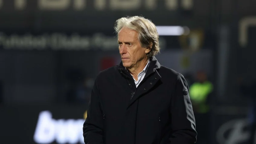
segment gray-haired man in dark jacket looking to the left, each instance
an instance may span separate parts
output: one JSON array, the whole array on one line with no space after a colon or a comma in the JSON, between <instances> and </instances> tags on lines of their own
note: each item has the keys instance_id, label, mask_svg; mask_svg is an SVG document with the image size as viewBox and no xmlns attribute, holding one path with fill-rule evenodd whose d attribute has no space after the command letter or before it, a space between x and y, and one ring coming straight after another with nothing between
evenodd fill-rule
<instances>
[{"instance_id":1,"label":"gray-haired man in dark jacket looking to the left","mask_svg":"<svg viewBox=\"0 0 256 144\"><path fill-rule=\"evenodd\" d=\"M156 26L120 18L120 65L100 72L83 135L86 144L193 144L195 118L182 74L161 66Z\"/></svg>"}]
</instances>

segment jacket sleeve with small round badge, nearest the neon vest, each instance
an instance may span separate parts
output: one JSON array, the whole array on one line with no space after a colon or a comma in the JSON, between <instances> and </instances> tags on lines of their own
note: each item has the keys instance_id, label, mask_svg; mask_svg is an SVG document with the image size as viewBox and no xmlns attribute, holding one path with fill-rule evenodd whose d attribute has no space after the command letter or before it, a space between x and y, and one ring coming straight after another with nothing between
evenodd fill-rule
<instances>
[{"instance_id":1,"label":"jacket sleeve with small round badge, nearest the neon vest","mask_svg":"<svg viewBox=\"0 0 256 144\"><path fill-rule=\"evenodd\" d=\"M189 87L182 74L178 75L172 94L171 115L172 135L169 138L170 143L194 144L197 136L195 116L189 98Z\"/></svg>"}]
</instances>

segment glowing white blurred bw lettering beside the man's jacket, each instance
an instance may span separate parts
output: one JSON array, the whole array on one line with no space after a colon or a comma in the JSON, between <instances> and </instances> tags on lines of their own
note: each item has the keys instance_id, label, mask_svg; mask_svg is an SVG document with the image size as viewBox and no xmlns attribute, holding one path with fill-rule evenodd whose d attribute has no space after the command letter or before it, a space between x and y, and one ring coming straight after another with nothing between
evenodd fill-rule
<instances>
[{"instance_id":1,"label":"glowing white blurred bw lettering beside the man's jacket","mask_svg":"<svg viewBox=\"0 0 256 144\"><path fill-rule=\"evenodd\" d=\"M84 144L84 119L53 119L50 111L42 111L34 133L34 141L38 144L68 143Z\"/></svg>"}]
</instances>

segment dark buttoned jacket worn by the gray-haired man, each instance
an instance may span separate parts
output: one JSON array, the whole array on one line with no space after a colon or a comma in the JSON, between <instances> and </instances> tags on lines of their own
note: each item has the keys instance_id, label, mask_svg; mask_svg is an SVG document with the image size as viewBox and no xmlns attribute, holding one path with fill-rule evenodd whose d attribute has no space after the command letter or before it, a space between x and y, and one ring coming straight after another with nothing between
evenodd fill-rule
<instances>
[{"instance_id":1,"label":"dark buttoned jacket worn by the gray-haired man","mask_svg":"<svg viewBox=\"0 0 256 144\"><path fill-rule=\"evenodd\" d=\"M100 72L83 127L85 144L194 144L195 118L182 74L150 59L143 81L120 65Z\"/></svg>"}]
</instances>

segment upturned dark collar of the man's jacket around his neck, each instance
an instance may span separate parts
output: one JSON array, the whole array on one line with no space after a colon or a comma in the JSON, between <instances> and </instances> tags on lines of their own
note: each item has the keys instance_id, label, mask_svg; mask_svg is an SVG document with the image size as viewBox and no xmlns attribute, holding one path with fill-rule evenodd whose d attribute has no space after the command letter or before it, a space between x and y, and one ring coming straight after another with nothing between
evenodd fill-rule
<instances>
[{"instance_id":1,"label":"upturned dark collar of the man's jacket around his neck","mask_svg":"<svg viewBox=\"0 0 256 144\"><path fill-rule=\"evenodd\" d=\"M147 71L146 71L146 76L151 74L152 72L155 72L155 70L159 70L160 67L161 67L161 65L159 64L159 62L157 61L155 56L149 58L149 61L150 61L150 63L149 63L149 66L147 68ZM127 78L132 78L132 76L130 75L128 70L126 70L125 67L123 66L122 61L120 62L120 64L117 67L118 67L118 71L120 73L123 73Z\"/></svg>"}]
</instances>

